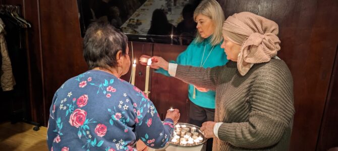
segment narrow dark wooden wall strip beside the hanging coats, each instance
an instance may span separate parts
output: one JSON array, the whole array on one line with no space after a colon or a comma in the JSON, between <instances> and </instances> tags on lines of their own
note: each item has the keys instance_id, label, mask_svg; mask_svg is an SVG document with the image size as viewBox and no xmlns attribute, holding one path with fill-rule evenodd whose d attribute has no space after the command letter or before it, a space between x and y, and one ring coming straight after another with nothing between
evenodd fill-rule
<instances>
[{"instance_id":1,"label":"narrow dark wooden wall strip beside the hanging coats","mask_svg":"<svg viewBox=\"0 0 338 151\"><path fill-rule=\"evenodd\" d=\"M40 18L37 0L26 0L24 4L24 17L32 25L27 29L26 47L28 55L28 79L31 120L44 124L45 102L43 101L42 84L42 58L40 41ZM28 99L28 98L27 98ZM48 113L46 113L48 114Z\"/></svg>"}]
</instances>

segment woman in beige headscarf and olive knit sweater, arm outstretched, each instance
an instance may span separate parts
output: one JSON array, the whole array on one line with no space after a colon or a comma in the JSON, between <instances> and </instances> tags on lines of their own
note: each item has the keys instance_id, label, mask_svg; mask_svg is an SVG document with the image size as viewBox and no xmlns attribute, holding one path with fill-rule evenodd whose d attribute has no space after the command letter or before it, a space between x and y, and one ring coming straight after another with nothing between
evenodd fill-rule
<instances>
[{"instance_id":1,"label":"woman in beige headscarf and olive knit sweater, arm outstretched","mask_svg":"<svg viewBox=\"0 0 338 151\"><path fill-rule=\"evenodd\" d=\"M295 113L293 80L280 49L278 25L242 12L223 24L221 45L229 61L199 68L153 56L154 67L186 83L216 91L215 121L202 124L213 150L288 150Z\"/></svg>"}]
</instances>

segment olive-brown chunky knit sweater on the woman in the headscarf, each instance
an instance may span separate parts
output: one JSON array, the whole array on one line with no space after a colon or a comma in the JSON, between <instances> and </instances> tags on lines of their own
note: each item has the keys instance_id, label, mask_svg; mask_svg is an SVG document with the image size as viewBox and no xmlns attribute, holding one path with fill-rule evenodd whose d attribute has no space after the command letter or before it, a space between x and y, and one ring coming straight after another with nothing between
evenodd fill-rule
<instances>
[{"instance_id":1,"label":"olive-brown chunky knit sweater on the woman in the headscarf","mask_svg":"<svg viewBox=\"0 0 338 151\"><path fill-rule=\"evenodd\" d=\"M293 80L283 60L254 64L242 76L237 63L199 68L178 65L176 78L216 91L215 122L224 122L213 150L288 150Z\"/></svg>"}]
</instances>

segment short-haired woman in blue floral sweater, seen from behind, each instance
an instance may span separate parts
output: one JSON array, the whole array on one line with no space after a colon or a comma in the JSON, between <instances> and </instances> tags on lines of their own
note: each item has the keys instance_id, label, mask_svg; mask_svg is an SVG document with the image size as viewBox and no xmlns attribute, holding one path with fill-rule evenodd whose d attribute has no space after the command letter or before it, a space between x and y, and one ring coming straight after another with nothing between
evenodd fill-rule
<instances>
[{"instance_id":1,"label":"short-haired woman in blue floral sweater, seen from behind","mask_svg":"<svg viewBox=\"0 0 338 151\"><path fill-rule=\"evenodd\" d=\"M160 120L153 103L120 79L129 70L127 37L111 25L93 23L84 38L86 71L54 95L48 121L50 150L136 150L137 140L164 147L180 113Z\"/></svg>"}]
</instances>

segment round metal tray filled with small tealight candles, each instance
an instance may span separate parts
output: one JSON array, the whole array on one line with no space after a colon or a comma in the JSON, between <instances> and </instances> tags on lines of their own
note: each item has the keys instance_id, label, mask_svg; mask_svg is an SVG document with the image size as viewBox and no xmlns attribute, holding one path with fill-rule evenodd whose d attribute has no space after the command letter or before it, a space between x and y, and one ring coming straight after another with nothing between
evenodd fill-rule
<instances>
[{"instance_id":1,"label":"round metal tray filled with small tealight candles","mask_svg":"<svg viewBox=\"0 0 338 151\"><path fill-rule=\"evenodd\" d=\"M207 138L200 130L200 127L187 123L177 123L174 137L170 143L175 146L192 147L202 145L206 140Z\"/></svg>"}]
</instances>

